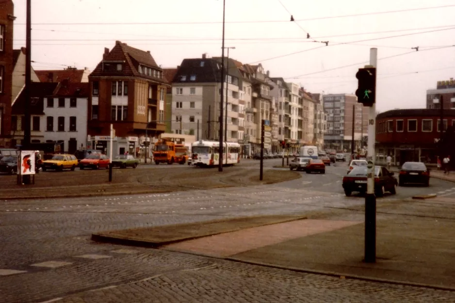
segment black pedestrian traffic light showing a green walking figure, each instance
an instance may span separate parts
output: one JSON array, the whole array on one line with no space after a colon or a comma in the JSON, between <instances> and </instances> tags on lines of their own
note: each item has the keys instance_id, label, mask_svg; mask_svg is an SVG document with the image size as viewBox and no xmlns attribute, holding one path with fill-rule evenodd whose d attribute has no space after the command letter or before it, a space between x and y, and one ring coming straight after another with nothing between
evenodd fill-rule
<instances>
[{"instance_id":1,"label":"black pedestrian traffic light showing a green walking figure","mask_svg":"<svg viewBox=\"0 0 455 303\"><path fill-rule=\"evenodd\" d=\"M363 106L373 106L376 102L376 68L359 68L356 78L358 79L357 102L362 103Z\"/></svg>"}]
</instances>

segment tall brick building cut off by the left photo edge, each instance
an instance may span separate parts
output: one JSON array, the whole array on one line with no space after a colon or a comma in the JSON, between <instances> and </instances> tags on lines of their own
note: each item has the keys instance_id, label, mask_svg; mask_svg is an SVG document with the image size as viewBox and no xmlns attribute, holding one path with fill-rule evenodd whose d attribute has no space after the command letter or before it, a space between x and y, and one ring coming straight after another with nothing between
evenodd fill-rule
<instances>
[{"instance_id":1,"label":"tall brick building cut off by the left photo edge","mask_svg":"<svg viewBox=\"0 0 455 303\"><path fill-rule=\"evenodd\" d=\"M11 98L13 96L13 22L12 0L0 1L0 147L11 145Z\"/></svg>"}]
</instances>

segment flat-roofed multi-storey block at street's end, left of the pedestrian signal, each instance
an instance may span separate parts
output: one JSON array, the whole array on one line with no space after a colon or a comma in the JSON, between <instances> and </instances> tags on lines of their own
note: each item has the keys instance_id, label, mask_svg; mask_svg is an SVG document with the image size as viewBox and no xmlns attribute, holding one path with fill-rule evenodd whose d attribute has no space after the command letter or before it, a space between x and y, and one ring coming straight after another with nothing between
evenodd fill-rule
<instances>
[{"instance_id":1,"label":"flat-roofed multi-storey block at street's end, left of the pedestrian signal","mask_svg":"<svg viewBox=\"0 0 455 303\"><path fill-rule=\"evenodd\" d=\"M368 125L368 108L357 103L355 95L329 94L324 95L323 100L327 113L325 148L351 151L353 127L355 149L360 148L362 133L367 132L364 126ZM354 126L353 115L355 115Z\"/></svg>"}]
</instances>

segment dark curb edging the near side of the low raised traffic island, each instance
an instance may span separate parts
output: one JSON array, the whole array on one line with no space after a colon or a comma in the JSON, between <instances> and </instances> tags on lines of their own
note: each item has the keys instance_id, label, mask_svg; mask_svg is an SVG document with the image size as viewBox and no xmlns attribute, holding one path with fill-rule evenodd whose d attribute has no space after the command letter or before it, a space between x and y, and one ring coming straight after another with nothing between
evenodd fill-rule
<instances>
[{"instance_id":1,"label":"dark curb edging the near side of the low raised traffic island","mask_svg":"<svg viewBox=\"0 0 455 303\"><path fill-rule=\"evenodd\" d=\"M307 219L308 219L307 216L302 216L302 217L296 217L296 218L292 218L292 219L288 219L288 220L275 221L275 222L270 222L270 223L266 223L266 224L250 226L250 227L246 227L244 229L279 224L279 223L287 223L287 222L292 222L292 221L297 221L297 220L307 220ZM229 221L229 219L224 220L224 221ZM170 240L170 241L161 241L161 242L152 242L152 241L146 241L146 240L107 236L107 235L103 235L102 232L93 233L91 239L93 241L103 242L103 243L114 243L114 244L127 245L127 246L158 248L160 246L164 246L164 245L168 245L168 244L189 241L189 240L199 239L199 238L204 238L204 237L211 237L211 236L226 234L226 233L235 232L235 231L238 231L238 230L227 230L227 231L222 231L222 232L214 232L214 233L209 233L209 234L201 235L201 236L187 237L187 238L175 239L175 240Z\"/></svg>"}]
</instances>

